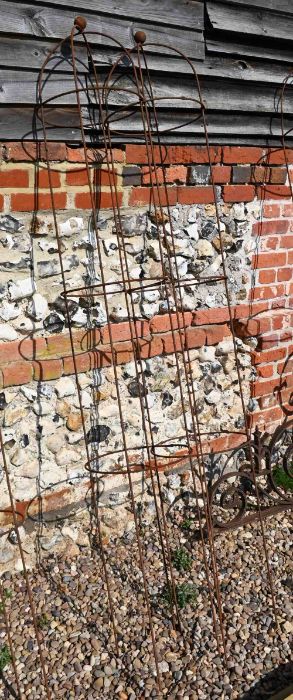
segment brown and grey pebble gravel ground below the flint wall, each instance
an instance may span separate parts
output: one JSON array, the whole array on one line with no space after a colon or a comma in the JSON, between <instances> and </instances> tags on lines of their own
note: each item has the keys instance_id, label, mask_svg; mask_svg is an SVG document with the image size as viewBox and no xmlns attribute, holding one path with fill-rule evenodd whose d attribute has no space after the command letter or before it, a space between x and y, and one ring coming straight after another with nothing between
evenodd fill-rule
<instances>
[{"instance_id":1,"label":"brown and grey pebble gravel ground below the flint wall","mask_svg":"<svg viewBox=\"0 0 293 700\"><path fill-rule=\"evenodd\" d=\"M217 561L223 599L227 662L217 650L194 523L170 525L171 550L187 552L191 568L175 569L177 590L188 584L196 595L181 610L183 632L175 631L164 595L164 568L156 527L142 531L152 619L162 679L158 692L147 623L138 551L133 532L107 544L108 569L119 655L109 626L106 587L98 550L84 547L75 559L50 555L30 572L52 697L100 700L263 700L293 680L292 563L290 515L265 522L276 591L279 629L274 623L259 525L220 535ZM186 529L188 528L188 529ZM208 554L208 548L207 548ZM182 563L182 555L179 556ZM178 562L177 562L178 566ZM290 568L291 567L291 568ZM45 697L24 578L4 576L23 698ZM186 589L185 589L186 591ZM184 602L184 601L183 601ZM6 643L0 615L0 649ZM0 657L1 658L1 657ZM12 665L0 680L0 697L11 698ZM14 697L17 697L14 695Z\"/></svg>"}]
</instances>

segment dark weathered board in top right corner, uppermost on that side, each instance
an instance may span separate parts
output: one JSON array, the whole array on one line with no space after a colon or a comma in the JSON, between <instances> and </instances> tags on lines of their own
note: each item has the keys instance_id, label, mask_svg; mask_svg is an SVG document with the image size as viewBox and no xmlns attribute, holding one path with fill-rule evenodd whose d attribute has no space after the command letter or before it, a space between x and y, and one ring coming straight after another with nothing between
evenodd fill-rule
<instances>
[{"instance_id":1,"label":"dark weathered board in top right corner, uppermost on that side","mask_svg":"<svg viewBox=\"0 0 293 700\"><path fill-rule=\"evenodd\" d=\"M207 1L207 12L213 29L293 41L292 15L286 17L277 12L224 5L213 0Z\"/></svg>"}]
</instances>

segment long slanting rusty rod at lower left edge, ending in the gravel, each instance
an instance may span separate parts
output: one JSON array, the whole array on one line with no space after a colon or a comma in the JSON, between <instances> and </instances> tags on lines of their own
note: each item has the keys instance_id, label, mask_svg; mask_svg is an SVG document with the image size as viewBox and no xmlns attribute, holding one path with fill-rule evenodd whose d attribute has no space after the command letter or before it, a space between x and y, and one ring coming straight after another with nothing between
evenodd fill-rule
<instances>
[{"instance_id":1,"label":"long slanting rusty rod at lower left edge, ending in the gravel","mask_svg":"<svg viewBox=\"0 0 293 700\"><path fill-rule=\"evenodd\" d=\"M6 452L5 452L5 448L4 448L3 435L2 435L1 428L0 428L0 450L2 453L3 470L4 470L5 477L6 477L6 484L7 484L9 500L10 500L10 505L11 505L14 531L16 534L19 554L20 554L21 563L22 563L23 575L24 575L24 579L26 582L26 589L27 589L27 594L28 594L28 599L29 599L29 606L30 606L30 611L31 611L31 615L32 615L32 621L33 621L33 626L34 626L34 630L35 630L37 645L38 645L39 659L40 659L40 664L41 664L45 692L46 692L46 696L47 696L48 700L52 700L51 690L49 689L49 684L48 684L47 671L46 671L46 667L45 667L45 658L43 656L41 637L40 637L40 632L39 632L39 628L38 628L38 621L37 621L37 614L36 614L36 609L35 609L35 604L34 604L34 598L33 598L33 593L32 593L31 584L30 584L30 580L29 580L28 570L27 570L27 566L26 566L26 562L25 562L25 556L24 556L24 550L23 550L23 546L22 546L22 542L21 542L21 537L20 537L19 530L18 530L19 524L17 521L17 513L16 513L16 509L15 509L15 505L14 505L12 486L11 486L11 481L10 481L10 476L9 476L9 469L8 469L8 464L7 464L7 460L6 460Z\"/></svg>"}]
</instances>

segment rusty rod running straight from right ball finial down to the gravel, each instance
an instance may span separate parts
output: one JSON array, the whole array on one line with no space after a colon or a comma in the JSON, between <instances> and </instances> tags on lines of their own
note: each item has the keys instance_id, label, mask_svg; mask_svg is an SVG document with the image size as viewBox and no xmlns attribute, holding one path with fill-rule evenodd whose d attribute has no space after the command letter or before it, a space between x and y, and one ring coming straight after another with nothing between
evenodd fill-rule
<instances>
[{"instance_id":1,"label":"rusty rod running straight from right ball finial down to the gravel","mask_svg":"<svg viewBox=\"0 0 293 700\"><path fill-rule=\"evenodd\" d=\"M142 54L143 54L143 57L144 57L145 69L146 69L147 76L148 76L149 90L150 90L150 94L152 95L152 94L153 94L153 92L152 92L152 84L151 84L151 80L150 80L150 76L149 76L149 72L148 72L147 62L146 62L146 59L145 59L145 54L144 54L144 51L143 51L142 47L140 47L140 50L141 50L141 52L142 52ZM138 60L139 60L139 66L140 66L141 81L142 81L142 84L143 84L143 74L142 74L142 67L141 67L139 52L138 52ZM163 153L162 153L161 142L160 142L160 135L159 135L159 128L158 128L158 118L157 118L157 113L156 113L155 105L153 105L153 110L154 110L154 118L155 118L156 130L157 130L157 138L158 138L158 142L159 142L160 157L161 157L161 160L163 160ZM147 110L146 110L146 112L147 112ZM148 112L147 112L147 120L148 120L148 124L149 124L149 115L148 115ZM149 136L150 136L151 155L152 155L152 161L153 161L152 164L149 163L149 167L150 167L151 175L152 175L151 165L153 166L153 169L154 169L154 173L155 173L155 177L156 177L156 184L157 184L157 192L158 192L159 207L160 207L160 211L162 212L162 203L161 203L160 190L159 190L159 183L158 183L158 174L157 174L157 168L156 168L156 158L155 158L154 144L153 144L153 142L152 142L151 133L150 133L150 128L149 128ZM170 220L170 233L171 233L173 251L175 252L174 231L173 231L173 227L172 227L171 211L170 211L169 198L168 198L168 189L167 189L167 184L166 184L166 180L165 180L165 172L164 172L164 170L163 170L163 179L164 179L164 191L165 191L166 202L167 202L167 208L168 208L168 213L169 213L169 220ZM152 182L152 180L153 180L153 178L152 178L152 176L151 176L151 182ZM154 206L155 206L155 197L154 197ZM166 227L165 227L165 223L164 223L164 218L162 217L162 219L163 219L163 224L162 224L162 225L163 225L163 232L164 232L164 236L165 236L166 239L167 239L167 231L166 231ZM168 248L168 247L167 247L167 254L168 254L168 259L169 259L169 261L170 261L170 254L169 254L169 248ZM175 267L176 267L176 273L177 273L177 279L178 279L178 266L177 266L176 256L174 256L174 260L175 260ZM173 283L173 273L172 273L171 265L170 265L170 270L171 270L171 283ZM176 299L176 291L174 290L174 292L175 292L175 293L174 293L174 300L175 300L175 307L176 307L177 323L178 323L178 326L179 326L179 328L180 328L180 315L179 315L179 312L178 312L177 299ZM183 305L182 305L182 296L181 296L181 288L180 288L180 287L179 287L179 296L180 296L180 301L181 301L181 307L183 307ZM182 312L182 313L183 313L183 312ZM172 317L171 317L171 316L170 316L170 322L171 322L171 326L172 326ZM195 423L194 423L194 415L197 416L197 409L196 409L196 401L195 401L195 400L192 401L192 397L191 397L191 394L190 394L190 378L192 378L192 367L191 367L190 355L189 355L189 350L188 350L188 342L187 342L187 337L186 337L186 326L185 326L184 323L183 323L183 332L184 332L184 335L185 335L185 343L183 344L183 342L182 342L182 336L181 336L180 332L179 332L179 338L180 338L181 351L182 351L182 357L183 357L183 366L184 366L184 370L185 370L185 377L186 377L186 384L187 384L189 405L190 405L190 409L191 409L191 417L192 417L192 423L193 423L194 438L195 438L195 441L196 441L197 458L198 458L198 464L199 464L199 466L200 466L200 469L199 469L199 479L200 479L202 491L203 491L203 493L204 493L204 488L205 488L204 480L203 480L204 465L203 465L203 469L201 468L201 466L202 466L202 465L201 465L201 458L202 458L201 437L200 437L200 430L196 430L196 429L195 429ZM175 343L174 343L174 345L175 345ZM186 363L185 363L185 359L184 359L184 345L186 345L187 352L188 352L188 359L189 359L189 375L190 375L189 377L188 377L187 367L186 367ZM175 346L175 347L176 347L176 346ZM180 377L180 374L179 374L179 377ZM191 381L191 386L192 386L192 389L193 389L193 381ZM184 400L183 400L183 397L182 397L182 407L183 407L183 416L184 416L184 423L185 423L185 431L186 431L187 438L188 438L188 440L189 440L188 427L187 427L186 418L185 418L185 413L184 413ZM199 427L199 425L198 425L198 427ZM201 531L201 536L203 537L203 530L202 530L202 526L201 526L201 514L200 514L200 509L199 509L199 507L198 507L197 489L196 489L196 483L195 483L195 473L194 473L194 468L193 468L192 460L190 460L190 462L191 462L191 473L192 473L192 479L193 479L193 484L194 484L194 491L195 491L195 497L196 497L198 515L199 515L200 531ZM218 578L218 571L217 571L217 562L216 562L215 553L214 553L213 531L212 531L212 527L210 527L210 518L209 518L209 513L208 513L209 505L208 505L207 499L205 499L205 498L204 498L204 508L205 508L205 514L206 514L206 521L207 521L207 523L208 523L209 546L210 546L210 554L211 554L211 563L212 563L212 572L213 572L214 586L215 586L216 598L217 598L217 604L218 604L218 615L219 615L219 623L220 623L221 638L222 638L222 644L223 644L223 647L224 647L224 654L226 655L226 649L225 649L225 635L224 635L224 628L223 628L223 622L222 622L222 602L221 602L221 593L220 593L219 578ZM205 553L204 539L203 539L203 541L202 541L202 547L203 547L203 552ZM207 569L207 570L208 570L208 569ZM214 619L215 633L216 633L216 635L217 635L217 627L216 627L216 621L215 621L215 617L214 617L215 612L214 612L213 606L212 606L212 613L213 613L213 619ZM217 637L217 643L218 643L218 637Z\"/></svg>"}]
</instances>

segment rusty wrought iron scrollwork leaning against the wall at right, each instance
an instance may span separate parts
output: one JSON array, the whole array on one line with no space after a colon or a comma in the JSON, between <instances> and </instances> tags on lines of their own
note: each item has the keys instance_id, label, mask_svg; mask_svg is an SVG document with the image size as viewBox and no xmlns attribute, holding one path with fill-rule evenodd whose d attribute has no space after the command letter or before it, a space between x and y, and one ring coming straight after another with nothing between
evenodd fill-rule
<instances>
[{"instance_id":1,"label":"rusty wrought iron scrollwork leaning against the wall at right","mask_svg":"<svg viewBox=\"0 0 293 700\"><path fill-rule=\"evenodd\" d=\"M209 490L214 528L233 529L293 506L293 421L233 450Z\"/></svg>"}]
</instances>

